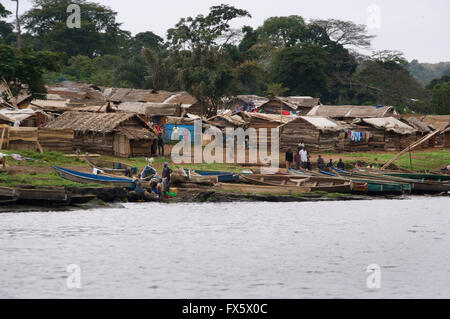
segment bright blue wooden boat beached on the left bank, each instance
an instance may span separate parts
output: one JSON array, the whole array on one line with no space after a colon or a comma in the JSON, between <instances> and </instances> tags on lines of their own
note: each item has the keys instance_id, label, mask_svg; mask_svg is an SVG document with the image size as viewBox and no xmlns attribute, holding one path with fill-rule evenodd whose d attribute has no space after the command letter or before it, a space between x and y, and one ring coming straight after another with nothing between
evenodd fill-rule
<instances>
[{"instance_id":1,"label":"bright blue wooden boat beached on the left bank","mask_svg":"<svg viewBox=\"0 0 450 319\"><path fill-rule=\"evenodd\" d=\"M107 184L118 187L134 188L132 179L82 173L67 168L53 166L56 173L69 181L82 184Z\"/></svg>"}]
</instances>

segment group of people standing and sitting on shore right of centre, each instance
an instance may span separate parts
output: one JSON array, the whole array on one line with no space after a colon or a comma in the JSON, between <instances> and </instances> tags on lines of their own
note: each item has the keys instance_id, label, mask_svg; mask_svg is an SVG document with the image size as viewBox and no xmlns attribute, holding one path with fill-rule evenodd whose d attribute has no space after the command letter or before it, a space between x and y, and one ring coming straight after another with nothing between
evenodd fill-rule
<instances>
[{"instance_id":1,"label":"group of people standing and sitting on shore right of centre","mask_svg":"<svg viewBox=\"0 0 450 319\"><path fill-rule=\"evenodd\" d=\"M344 170L345 164L342 161L342 158L336 163L333 162L333 159L325 164L325 160L322 155L319 155L317 158L317 168L320 170L332 170L334 167ZM308 150L305 147L304 142L300 142L297 151L295 154L292 152L292 149L288 149L286 152L286 169L295 168L295 169L307 169L312 170L311 160Z\"/></svg>"}]
</instances>

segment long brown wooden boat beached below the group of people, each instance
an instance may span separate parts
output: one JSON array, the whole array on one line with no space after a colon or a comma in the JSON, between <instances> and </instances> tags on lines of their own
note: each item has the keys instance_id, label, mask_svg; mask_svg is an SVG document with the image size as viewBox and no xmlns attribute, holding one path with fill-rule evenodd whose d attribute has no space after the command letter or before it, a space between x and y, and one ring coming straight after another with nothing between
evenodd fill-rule
<instances>
[{"instance_id":1,"label":"long brown wooden boat beached below the group of people","mask_svg":"<svg viewBox=\"0 0 450 319\"><path fill-rule=\"evenodd\" d=\"M326 191L348 193L353 189L353 183L348 179L328 178L319 176L293 175L264 175L264 174L241 174L243 182L254 185L267 185L290 188L309 188L310 191Z\"/></svg>"}]
</instances>

